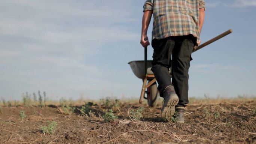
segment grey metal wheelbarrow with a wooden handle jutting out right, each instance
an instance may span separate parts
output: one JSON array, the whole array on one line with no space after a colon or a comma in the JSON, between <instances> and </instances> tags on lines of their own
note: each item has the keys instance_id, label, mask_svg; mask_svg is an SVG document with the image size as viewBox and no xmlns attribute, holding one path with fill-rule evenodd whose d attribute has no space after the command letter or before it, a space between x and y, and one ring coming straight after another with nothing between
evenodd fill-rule
<instances>
[{"instance_id":1,"label":"grey metal wheelbarrow with a wooden handle jutting out right","mask_svg":"<svg viewBox=\"0 0 256 144\"><path fill-rule=\"evenodd\" d=\"M225 31L219 36L214 37L213 39L208 40L202 45L199 45L196 49L193 50L193 52L215 42L216 40L221 39L222 37L230 33L232 33L231 29L228 31ZM143 86L141 89L140 100L139 100L140 104L142 103L143 98L145 98L147 99L147 103L149 107L155 107L156 99L158 95L158 89L157 89L155 76L151 71L152 60L147 60L147 48L144 49L144 61L143 60L131 61L131 62L128 62L128 64L130 65L135 76L143 80ZM171 71L170 71L170 75L171 75ZM145 97L145 92L147 93L147 97Z\"/></svg>"}]
</instances>

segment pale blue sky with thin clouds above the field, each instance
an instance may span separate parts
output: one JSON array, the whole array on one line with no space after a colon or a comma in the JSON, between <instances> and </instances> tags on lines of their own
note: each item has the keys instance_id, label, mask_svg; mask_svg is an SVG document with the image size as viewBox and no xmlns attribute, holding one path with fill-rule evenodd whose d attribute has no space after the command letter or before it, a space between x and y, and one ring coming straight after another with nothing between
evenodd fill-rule
<instances>
[{"instance_id":1,"label":"pale blue sky with thin clouds above the field","mask_svg":"<svg viewBox=\"0 0 256 144\"><path fill-rule=\"evenodd\" d=\"M0 98L38 90L49 99L139 98L142 80L127 63L144 59L144 0L0 3ZM202 43L233 33L192 54L189 96L255 96L256 0L205 3Z\"/></svg>"}]
</instances>

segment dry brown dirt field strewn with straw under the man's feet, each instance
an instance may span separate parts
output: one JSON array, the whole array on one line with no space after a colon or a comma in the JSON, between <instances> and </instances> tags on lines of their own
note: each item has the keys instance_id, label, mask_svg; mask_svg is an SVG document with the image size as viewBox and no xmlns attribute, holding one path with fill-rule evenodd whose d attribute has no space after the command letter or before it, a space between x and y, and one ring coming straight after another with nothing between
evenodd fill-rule
<instances>
[{"instance_id":1,"label":"dry brown dirt field strewn with straw under the man's feet","mask_svg":"<svg viewBox=\"0 0 256 144\"><path fill-rule=\"evenodd\" d=\"M104 104L93 104L95 116L81 115L81 106L73 114L61 113L60 107L7 107L0 114L1 144L256 144L256 99L192 101L186 107L185 123L159 118L161 102L147 104L122 102L113 107L118 116L104 122ZM143 118L130 113L144 107ZM78 110L78 109L79 110ZM22 121L20 111L25 111ZM100 114L100 116L99 116ZM89 115L89 114L88 114ZM54 134L43 134L47 121L57 122ZM175 120L175 119L174 119Z\"/></svg>"}]
</instances>

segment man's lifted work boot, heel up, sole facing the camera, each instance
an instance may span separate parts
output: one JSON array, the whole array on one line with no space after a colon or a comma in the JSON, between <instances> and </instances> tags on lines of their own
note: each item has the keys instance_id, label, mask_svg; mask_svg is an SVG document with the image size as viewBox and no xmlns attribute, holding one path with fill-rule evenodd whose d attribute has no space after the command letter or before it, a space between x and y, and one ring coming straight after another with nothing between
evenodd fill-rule
<instances>
[{"instance_id":1,"label":"man's lifted work boot, heel up, sole facing the camera","mask_svg":"<svg viewBox=\"0 0 256 144\"><path fill-rule=\"evenodd\" d=\"M170 118L175 113L175 105L179 102L173 86L167 86L164 90L164 104L161 109L161 117Z\"/></svg>"}]
</instances>

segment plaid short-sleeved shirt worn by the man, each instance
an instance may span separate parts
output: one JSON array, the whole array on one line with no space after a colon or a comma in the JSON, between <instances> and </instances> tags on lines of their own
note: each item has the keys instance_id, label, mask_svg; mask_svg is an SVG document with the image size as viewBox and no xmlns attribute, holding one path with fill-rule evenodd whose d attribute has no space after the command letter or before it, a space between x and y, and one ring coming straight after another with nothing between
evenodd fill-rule
<instances>
[{"instance_id":1,"label":"plaid short-sleeved shirt worn by the man","mask_svg":"<svg viewBox=\"0 0 256 144\"><path fill-rule=\"evenodd\" d=\"M192 34L199 39L199 8L204 0L146 0L143 12L153 11L152 39Z\"/></svg>"}]
</instances>

